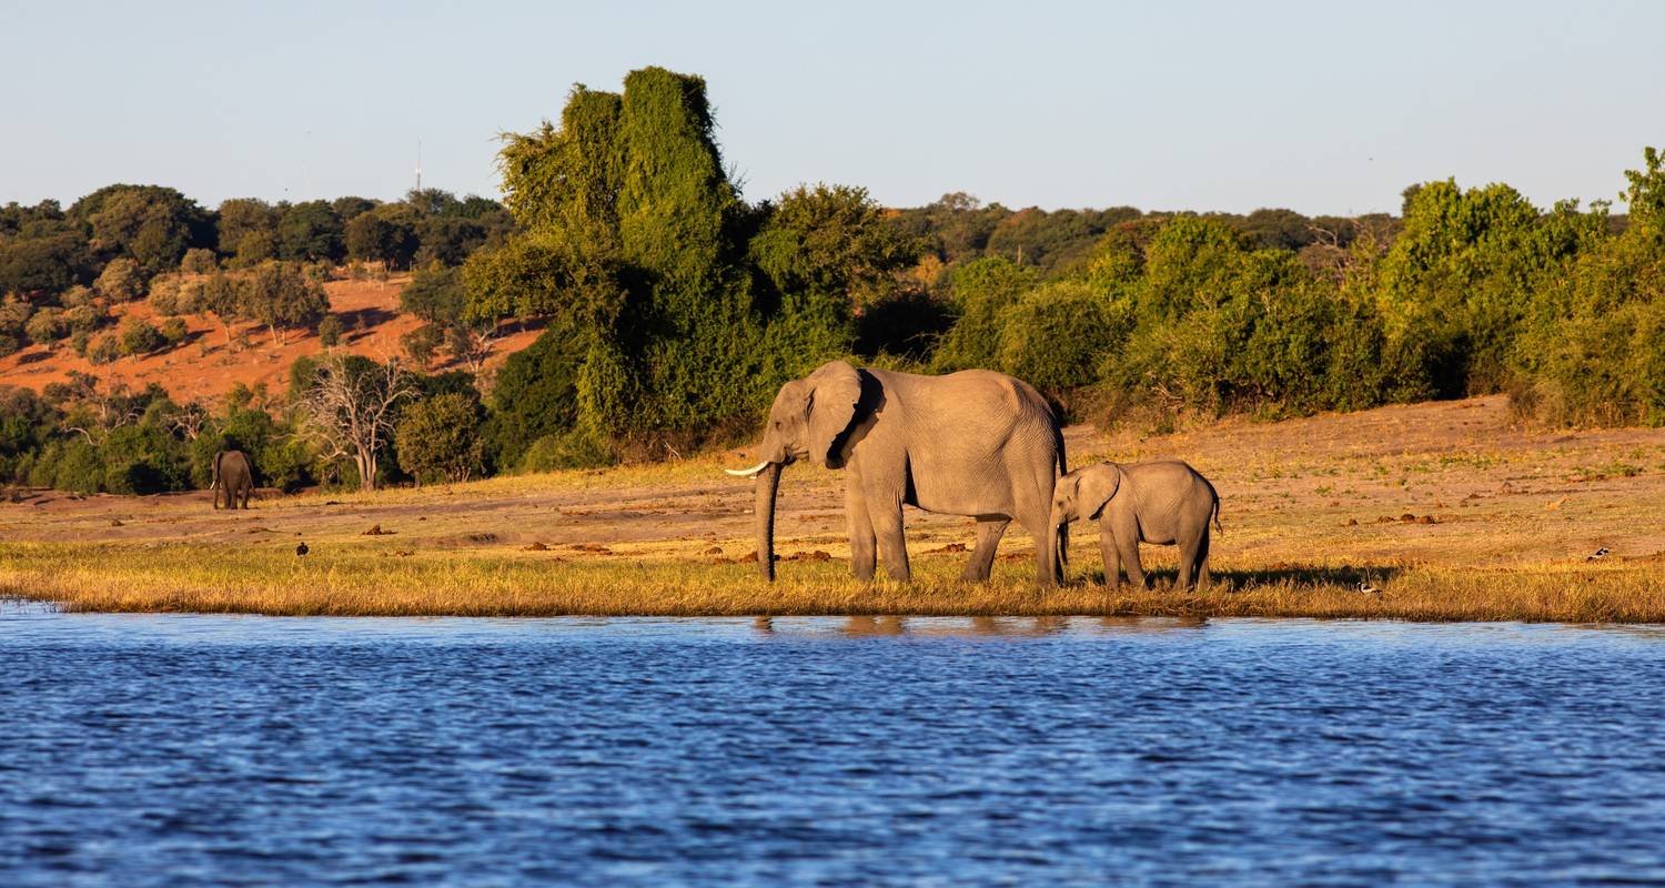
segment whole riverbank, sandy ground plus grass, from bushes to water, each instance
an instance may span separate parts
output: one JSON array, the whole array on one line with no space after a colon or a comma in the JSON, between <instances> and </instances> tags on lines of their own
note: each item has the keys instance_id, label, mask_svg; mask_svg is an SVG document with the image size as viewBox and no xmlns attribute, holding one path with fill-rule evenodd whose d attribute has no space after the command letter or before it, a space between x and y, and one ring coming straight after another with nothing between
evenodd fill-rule
<instances>
[{"instance_id":1,"label":"whole riverbank, sandy ground plus grass, from bushes to water","mask_svg":"<svg viewBox=\"0 0 1665 888\"><path fill-rule=\"evenodd\" d=\"M1327 616L1665 621L1665 433L1510 425L1502 398L1141 438L1069 432L1071 465L1180 456L1222 496L1215 585L1097 585L1077 525L1072 585L1034 588L1014 528L996 580L956 581L966 518L907 513L912 585L849 580L842 478L791 466L779 581L756 576L746 453L380 493L205 493L0 503L0 595L68 610L273 615ZM306 543L306 555L295 553ZM1600 560L1585 558L1607 548ZM1357 585L1380 590L1365 595Z\"/></svg>"}]
</instances>

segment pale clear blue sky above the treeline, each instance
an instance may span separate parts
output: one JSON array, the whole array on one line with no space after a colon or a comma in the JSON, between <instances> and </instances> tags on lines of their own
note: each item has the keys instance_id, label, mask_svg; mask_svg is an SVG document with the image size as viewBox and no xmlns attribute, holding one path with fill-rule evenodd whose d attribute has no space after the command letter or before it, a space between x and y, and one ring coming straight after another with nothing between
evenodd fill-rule
<instances>
[{"instance_id":1,"label":"pale clear blue sky above the treeline","mask_svg":"<svg viewBox=\"0 0 1665 888\"><path fill-rule=\"evenodd\" d=\"M748 198L1394 210L1429 178L1613 198L1665 145L1665 3L0 0L0 202L496 195L574 82L706 77Z\"/></svg>"}]
</instances>

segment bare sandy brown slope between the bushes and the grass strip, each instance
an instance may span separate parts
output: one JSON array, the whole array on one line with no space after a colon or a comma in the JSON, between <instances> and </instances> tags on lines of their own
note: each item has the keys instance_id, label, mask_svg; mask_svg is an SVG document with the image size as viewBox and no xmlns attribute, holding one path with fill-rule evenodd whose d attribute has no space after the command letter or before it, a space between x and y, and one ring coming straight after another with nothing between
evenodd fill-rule
<instances>
[{"instance_id":1,"label":"bare sandy brown slope between the bushes and the grass strip","mask_svg":"<svg viewBox=\"0 0 1665 888\"><path fill-rule=\"evenodd\" d=\"M1229 420L1164 437L1067 432L1072 466L1101 458L1179 456L1222 498L1222 568L1282 565L1450 565L1512 568L1665 560L1665 432L1530 430L1502 397L1324 415L1279 423ZM743 450L656 466L495 478L373 495L263 491L250 511L213 511L205 491L88 496L17 490L0 501L3 541L128 546L375 548L388 555L524 551L593 560L738 560L753 551L751 481L723 465ZM907 510L912 556L962 560L972 521ZM368 531L380 533L368 533ZM1096 528L1077 525L1076 568L1096 570ZM781 481L783 558L844 560L842 478L789 466ZM1172 548L1149 560L1170 563ZM826 553L824 556L819 553ZM1032 556L1016 525L1001 571ZM791 570L789 565L783 570Z\"/></svg>"}]
</instances>

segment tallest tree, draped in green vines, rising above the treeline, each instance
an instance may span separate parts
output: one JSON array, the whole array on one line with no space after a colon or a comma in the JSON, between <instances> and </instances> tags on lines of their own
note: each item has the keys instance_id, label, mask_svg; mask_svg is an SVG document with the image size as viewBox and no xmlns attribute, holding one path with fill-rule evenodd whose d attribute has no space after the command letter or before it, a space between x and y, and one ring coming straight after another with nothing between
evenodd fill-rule
<instances>
[{"instance_id":1,"label":"tallest tree, draped in green vines, rising above the treeline","mask_svg":"<svg viewBox=\"0 0 1665 888\"><path fill-rule=\"evenodd\" d=\"M549 282L556 313L588 340L584 420L616 437L698 433L773 390L758 373L749 213L723 172L701 78L643 68L623 93L578 87L559 128L509 137L501 168L524 228L501 255L544 270L480 260L468 278ZM496 293L485 295L508 307Z\"/></svg>"}]
</instances>

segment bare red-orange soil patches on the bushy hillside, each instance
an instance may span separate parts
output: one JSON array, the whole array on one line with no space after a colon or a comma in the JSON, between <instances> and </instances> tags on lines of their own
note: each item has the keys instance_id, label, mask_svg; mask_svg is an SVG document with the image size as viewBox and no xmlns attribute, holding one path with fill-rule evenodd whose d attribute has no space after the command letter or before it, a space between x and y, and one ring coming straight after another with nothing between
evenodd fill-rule
<instances>
[{"instance_id":1,"label":"bare red-orange soil patches on the bushy hillside","mask_svg":"<svg viewBox=\"0 0 1665 888\"><path fill-rule=\"evenodd\" d=\"M330 310L341 318L345 332L338 352L366 355L376 360L405 357L400 337L421 327L411 315L400 313L400 290L408 283L408 277L390 282L373 280L336 280L325 285L330 293ZM127 317L145 318L160 323L150 305L135 302L118 305L112 312L117 323ZM87 358L70 350L68 342L57 343L55 348L30 345L28 348L0 358L0 385L20 385L37 392L53 382L67 382L72 370L92 373L105 380L120 380L133 388L160 383L176 402L191 398L215 400L230 392L236 383L255 387L266 383L273 393L281 393L288 387L290 365L301 355L323 353L323 343L311 330L290 330L283 345L271 342L271 333L255 323L231 327L233 343L245 345L226 348L225 328L211 317L186 317L190 330L178 348L158 352L155 355L118 358L113 363L95 367ZM115 330L107 327L105 330ZM538 338L536 330L504 328L504 337L496 342L486 368L503 363L511 352L531 345ZM458 370L448 358L436 358L428 372Z\"/></svg>"}]
</instances>

